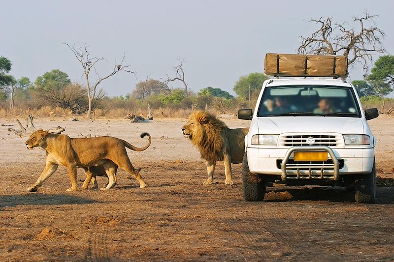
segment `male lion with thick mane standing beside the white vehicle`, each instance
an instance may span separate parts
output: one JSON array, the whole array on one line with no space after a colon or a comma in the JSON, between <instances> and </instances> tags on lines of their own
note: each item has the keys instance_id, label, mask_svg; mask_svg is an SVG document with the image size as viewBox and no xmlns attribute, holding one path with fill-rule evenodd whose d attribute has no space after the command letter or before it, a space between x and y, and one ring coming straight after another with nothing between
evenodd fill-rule
<instances>
[{"instance_id":1,"label":"male lion with thick mane standing beside the white vehicle","mask_svg":"<svg viewBox=\"0 0 394 262\"><path fill-rule=\"evenodd\" d=\"M183 136L197 146L201 158L206 160L208 179L203 184L212 183L216 161L223 161L225 184L232 185L231 163L242 163L245 153L244 138L249 128L230 129L215 116L204 111L195 111L182 127L182 131Z\"/></svg>"}]
</instances>

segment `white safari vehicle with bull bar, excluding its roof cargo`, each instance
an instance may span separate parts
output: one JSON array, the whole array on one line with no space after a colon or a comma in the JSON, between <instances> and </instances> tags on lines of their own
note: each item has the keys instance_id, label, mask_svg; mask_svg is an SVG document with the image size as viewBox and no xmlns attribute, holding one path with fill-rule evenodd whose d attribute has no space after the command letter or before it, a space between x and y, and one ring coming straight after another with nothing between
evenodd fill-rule
<instances>
[{"instance_id":1,"label":"white safari vehicle with bull bar, excluding its roof cargo","mask_svg":"<svg viewBox=\"0 0 394 262\"><path fill-rule=\"evenodd\" d=\"M265 186L338 185L356 202L375 202L375 137L356 89L339 79L270 79L263 83L245 137L242 187L246 201L262 201Z\"/></svg>"}]
</instances>

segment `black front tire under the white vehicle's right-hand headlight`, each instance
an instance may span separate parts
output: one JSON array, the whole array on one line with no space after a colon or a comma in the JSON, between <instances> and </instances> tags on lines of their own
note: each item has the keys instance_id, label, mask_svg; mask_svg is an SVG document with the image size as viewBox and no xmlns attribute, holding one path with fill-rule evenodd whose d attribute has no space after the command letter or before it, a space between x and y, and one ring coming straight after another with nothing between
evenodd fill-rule
<instances>
[{"instance_id":1,"label":"black front tire under the white vehicle's right-hand headlight","mask_svg":"<svg viewBox=\"0 0 394 262\"><path fill-rule=\"evenodd\" d=\"M373 160L372 172L368 175L360 175L355 181L356 202L374 204L376 198L376 168Z\"/></svg>"}]
</instances>

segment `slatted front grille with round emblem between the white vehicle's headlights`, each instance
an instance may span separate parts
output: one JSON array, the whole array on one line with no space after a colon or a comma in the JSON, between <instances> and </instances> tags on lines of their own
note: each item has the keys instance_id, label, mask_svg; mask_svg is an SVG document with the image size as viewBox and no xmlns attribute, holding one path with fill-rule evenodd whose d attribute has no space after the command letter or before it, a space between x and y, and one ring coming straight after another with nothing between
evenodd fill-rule
<instances>
[{"instance_id":1,"label":"slatted front grille with round emblem between the white vehicle's headlights","mask_svg":"<svg viewBox=\"0 0 394 262\"><path fill-rule=\"evenodd\" d=\"M315 143L307 143L308 138L314 138ZM343 147L343 137L336 134L283 134L278 141L279 147L292 146L329 146Z\"/></svg>"}]
</instances>

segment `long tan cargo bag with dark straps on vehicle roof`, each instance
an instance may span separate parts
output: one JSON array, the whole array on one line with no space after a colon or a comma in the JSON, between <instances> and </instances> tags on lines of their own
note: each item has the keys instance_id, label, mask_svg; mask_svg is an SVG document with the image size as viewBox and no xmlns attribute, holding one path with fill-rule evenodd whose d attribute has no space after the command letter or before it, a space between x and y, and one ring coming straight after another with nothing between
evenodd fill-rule
<instances>
[{"instance_id":1,"label":"long tan cargo bag with dark straps on vehicle roof","mask_svg":"<svg viewBox=\"0 0 394 262\"><path fill-rule=\"evenodd\" d=\"M346 77L348 59L345 56L267 53L264 72L271 76Z\"/></svg>"}]
</instances>

